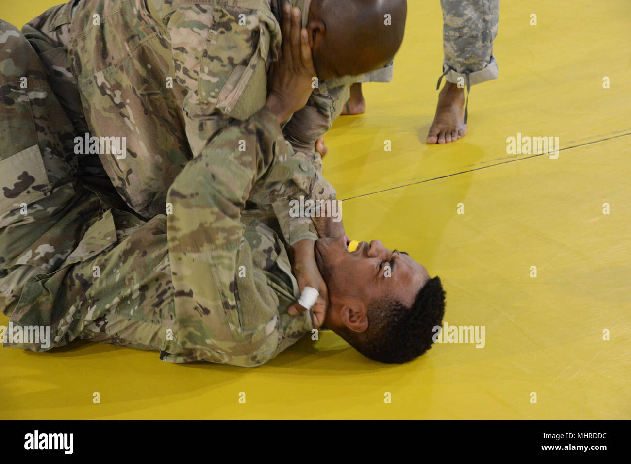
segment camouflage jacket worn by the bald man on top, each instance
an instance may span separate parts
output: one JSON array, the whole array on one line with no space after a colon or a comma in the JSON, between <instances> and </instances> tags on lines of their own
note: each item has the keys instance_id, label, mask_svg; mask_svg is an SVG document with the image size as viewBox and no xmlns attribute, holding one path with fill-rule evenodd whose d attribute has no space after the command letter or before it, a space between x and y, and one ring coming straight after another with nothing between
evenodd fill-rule
<instances>
[{"instance_id":1,"label":"camouflage jacket worn by the bald man on top","mask_svg":"<svg viewBox=\"0 0 631 464\"><path fill-rule=\"evenodd\" d=\"M292 3L306 21L310 0ZM165 212L168 187L227 119L245 120L264 106L266 70L281 43L279 8L280 0L80 0L49 9L23 33L59 45L50 64L59 80L78 83L78 94L61 97L76 108L71 120L85 115L78 132L126 137L126 158L100 160L121 197L148 219ZM285 138L317 171L315 141L355 79L322 82L285 125ZM326 183L324 199L334 194ZM308 227L280 219L283 230Z\"/></svg>"}]
</instances>

